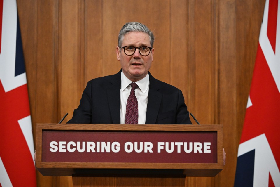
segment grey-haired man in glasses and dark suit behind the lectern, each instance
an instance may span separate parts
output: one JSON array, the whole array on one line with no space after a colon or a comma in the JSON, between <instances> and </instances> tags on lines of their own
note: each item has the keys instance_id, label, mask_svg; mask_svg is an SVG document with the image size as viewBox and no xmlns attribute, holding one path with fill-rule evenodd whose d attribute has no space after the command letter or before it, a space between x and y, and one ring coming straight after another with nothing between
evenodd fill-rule
<instances>
[{"instance_id":1,"label":"grey-haired man in glasses and dark suit behind the lectern","mask_svg":"<svg viewBox=\"0 0 280 187\"><path fill-rule=\"evenodd\" d=\"M153 42L153 33L145 25L125 24L116 47L122 69L115 75L89 81L80 105L67 123L191 124L181 90L155 79L149 72ZM135 98L136 104L130 104L130 97ZM131 112L131 105L136 105L136 112Z\"/></svg>"}]
</instances>

